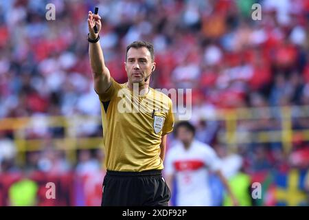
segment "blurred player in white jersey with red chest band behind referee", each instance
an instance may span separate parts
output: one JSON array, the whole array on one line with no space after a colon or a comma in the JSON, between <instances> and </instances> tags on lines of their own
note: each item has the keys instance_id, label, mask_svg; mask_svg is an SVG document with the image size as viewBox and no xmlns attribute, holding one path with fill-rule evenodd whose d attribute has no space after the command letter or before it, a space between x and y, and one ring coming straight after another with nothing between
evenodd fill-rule
<instances>
[{"instance_id":1,"label":"blurred player in white jersey with red chest band behind referee","mask_svg":"<svg viewBox=\"0 0 309 220\"><path fill-rule=\"evenodd\" d=\"M231 196L233 205L238 202L231 193L227 179L220 171L220 159L211 146L194 140L195 128L190 122L179 122L174 128L180 141L168 151L165 175L168 186L176 178L177 206L211 206L208 184L209 171L216 173Z\"/></svg>"}]
</instances>

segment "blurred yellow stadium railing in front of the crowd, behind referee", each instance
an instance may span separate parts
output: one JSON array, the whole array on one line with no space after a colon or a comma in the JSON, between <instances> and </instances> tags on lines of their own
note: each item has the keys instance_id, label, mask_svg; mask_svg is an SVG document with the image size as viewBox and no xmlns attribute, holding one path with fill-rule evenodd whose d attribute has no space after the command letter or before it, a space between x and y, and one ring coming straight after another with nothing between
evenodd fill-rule
<instances>
[{"instance_id":1,"label":"blurred yellow stadium railing in front of the crowd, behind referee","mask_svg":"<svg viewBox=\"0 0 309 220\"><path fill-rule=\"evenodd\" d=\"M293 107L260 107L260 108L238 108L218 109L211 118L201 120L216 120L223 122L222 129L217 133L219 142L227 144L230 151L235 151L239 144L250 143L281 143L284 152L289 153L293 146L293 137L301 135L303 140L309 141L308 129L293 129L293 120L309 117L309 106ZM255 122L266 120L266 124L277 124L277 127L260 128L258 130L246 129L240 126L242 122ZM16 163L25 163L26 153L40 151L45 146L53 146L58 150L65 151L70 162L76 162L78 149L102 148L102 133L97 136L80 135L80 127L102 126L100 115L72 115L63 116L33 116L30 118L2 118L0 119L0 132L12 133L14 144L17 149ZM309 124L308 124L309 126ZM46 135L48 129L63 129L61 137ZM31 137L31 131L40 133L41 137ZM34 132L35 133L35 132Z\"/></svg>"}]
</instances>

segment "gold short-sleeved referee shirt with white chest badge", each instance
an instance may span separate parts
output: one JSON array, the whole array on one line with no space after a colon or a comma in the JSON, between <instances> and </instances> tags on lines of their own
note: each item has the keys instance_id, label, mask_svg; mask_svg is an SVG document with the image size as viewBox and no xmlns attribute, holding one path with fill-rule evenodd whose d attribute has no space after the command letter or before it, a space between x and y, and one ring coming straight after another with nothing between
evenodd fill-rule
<instances>
[{"instance_id":1,"label":"gold short-sleeved referee shirt with white chest badge","mask_svg":"<svg viewBox=\"0 0 309 220\"><path fill-rule=\"evenodd\" d=\"M139 96L111 77L101 101L105 166L107 170L161 170L161 135L174 125L172 100L149 88Z\"/></svg>"}]
</instances>

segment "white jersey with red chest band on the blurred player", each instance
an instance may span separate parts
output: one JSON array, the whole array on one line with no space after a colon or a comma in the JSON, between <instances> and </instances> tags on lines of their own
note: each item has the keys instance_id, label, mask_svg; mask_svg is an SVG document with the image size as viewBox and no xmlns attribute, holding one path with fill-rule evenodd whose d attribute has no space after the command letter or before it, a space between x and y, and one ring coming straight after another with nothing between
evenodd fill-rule
<instances>
[{"instance_id":1,"label":"white jersey with red chest band on the blurred player","mask_svg":"<svg viewBox=\"0 0 309 220\"><path fill-rule=\"evenodd\" d=\"M187 150L179 143L168 151L165 174L176 176L177 206L211 206L209 170L220 169L220 159L211 146L194 140Z\"/></svg>"}]
</instances>

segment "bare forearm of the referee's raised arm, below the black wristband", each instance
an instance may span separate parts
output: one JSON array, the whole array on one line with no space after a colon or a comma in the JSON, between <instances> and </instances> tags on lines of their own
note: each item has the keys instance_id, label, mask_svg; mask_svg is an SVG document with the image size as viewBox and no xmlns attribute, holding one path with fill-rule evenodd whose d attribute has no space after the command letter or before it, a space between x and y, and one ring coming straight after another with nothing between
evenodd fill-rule
<instances>
[{"instance_id":1,"label":"bare forearm of the referee's raised arm, below the black wristband","mask_svg":"<svg viewBox=\"0 0 309 220\"><path fill-rule=\"evenodd\" d=\"M89 59L93 74L104 74L105 63L100 41L89 43Z\"/></svg>"}]
</instances>

